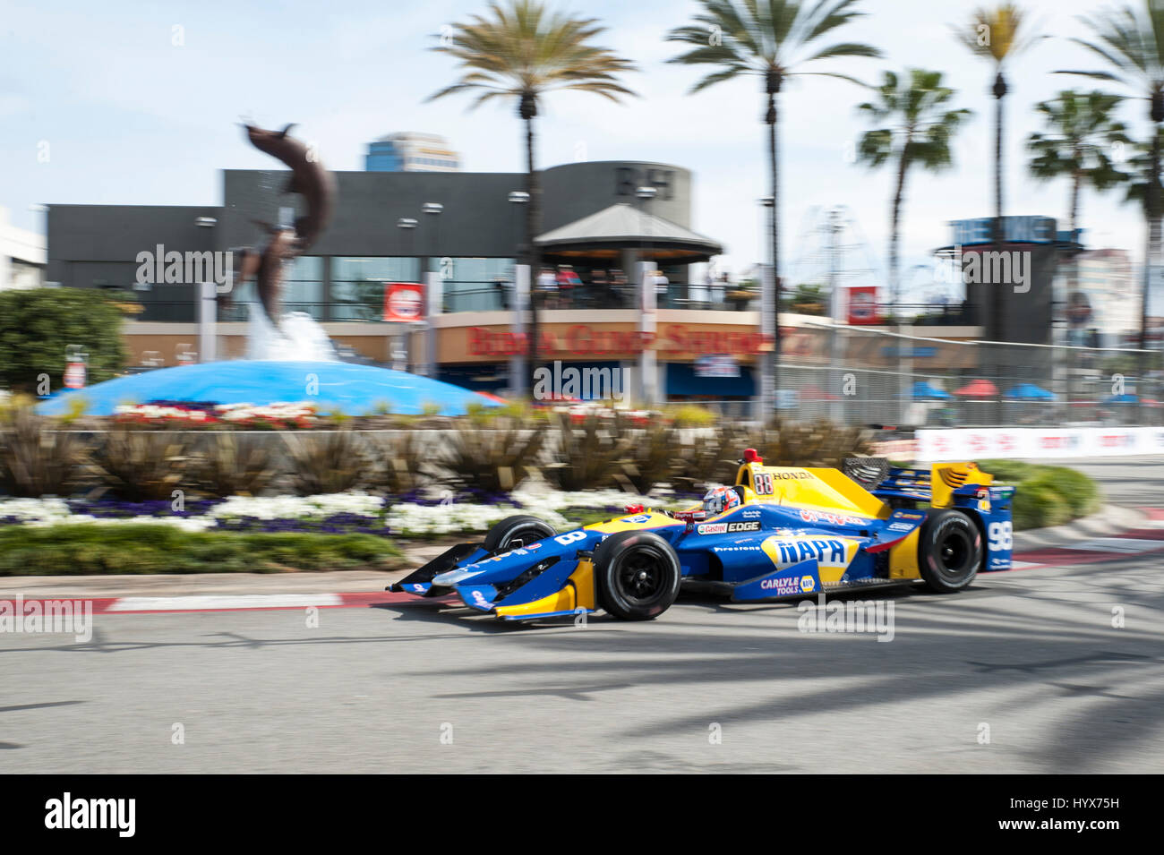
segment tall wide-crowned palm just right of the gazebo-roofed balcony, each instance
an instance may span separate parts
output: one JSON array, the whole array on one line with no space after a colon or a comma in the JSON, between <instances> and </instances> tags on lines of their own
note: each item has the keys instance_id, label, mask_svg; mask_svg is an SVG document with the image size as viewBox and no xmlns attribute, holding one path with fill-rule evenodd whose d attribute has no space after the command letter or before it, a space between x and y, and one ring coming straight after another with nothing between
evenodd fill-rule
<instances>
[{"instance_id":1,"label":"tall wide-crowned palm just right of the gazebo-roofed balcony","mask_svg":"<svg viewBox=\"0 0 1164 855\"><path fill-rule=\"evenodd\" d=\"M856 42L835 42L816 47L838 27L861 17L853 8L857 0L700 0L702 10L694 23L667 34L672 42L693 45L668 62L683 65L714 65L691 87L691 93L724 80L755 74L764 80L768 126L768 168L772 180L772 282L773 282L773 389L779 389L780 371L780 170L776 149L776 95L789 77L814 74L837 77L859 84L847 74L831 71L803 71L821 59L836 57L879 57L881 51ZM767 390L765 390L765 393ZM765 401L771 404L771 401Z\"/></svg>"}]
</instances>

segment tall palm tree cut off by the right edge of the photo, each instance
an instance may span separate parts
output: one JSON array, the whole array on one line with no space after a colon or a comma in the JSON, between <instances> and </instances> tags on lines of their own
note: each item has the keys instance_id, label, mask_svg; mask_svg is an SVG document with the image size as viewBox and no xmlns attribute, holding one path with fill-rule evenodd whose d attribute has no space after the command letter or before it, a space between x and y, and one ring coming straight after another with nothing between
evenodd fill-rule
<instances>
[{"instance_id":1,"label":"tall palm tree cut off by the right edge of the photo","mask_svg":"<svg viewBox=\"0 0 1164 855\"><path fill-rule=\"evenodd\" d=\"M1143 293L1140 301L1140 349L1137 382L1144 378L1148 347L1148 295L1151 263L1161 249L1161 131L1164 129L1164 0L1143 0L1138 7L1109 9L1100 17L1083 16L1098 41L1071 41L1103 59L1110 71L1060 71L1098 80L1121 84L1148 101L1148 117L1154 126L1148 174L1143 179L1144 216L1148 220L1148 245L1144 250ZM1137 387L1138 389L1138 387ZM1144 390L1137 396L1144 398Z\"/></svg>"}]
</instances>

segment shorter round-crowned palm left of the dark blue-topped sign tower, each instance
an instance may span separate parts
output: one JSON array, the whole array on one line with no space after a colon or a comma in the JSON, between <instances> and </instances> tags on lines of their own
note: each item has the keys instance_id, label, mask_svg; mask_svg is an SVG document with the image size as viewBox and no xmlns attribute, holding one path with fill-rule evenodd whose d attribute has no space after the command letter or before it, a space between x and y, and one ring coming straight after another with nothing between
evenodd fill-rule
<instances>
[{"instance_id":1,"label":"shorter round-crowned palm left of the dark blue-topped sign tower","mask_svg":"<svg viewBox=\"0 0 1164 855\"><path fill-rule=\"evenodd\" d=\"M897 247L906 177L915 165L931 172L947 169L952 163L950 140L971 112L946 108L953 98L953 90L942 85L941 71L909 69L904 78L887 71L876 93L876 101L858 106L861 113L881 127L865 131L857 148L857 159L872 169L892 161L897 169L889 208L889 302L896 312L900 288Z\"/></svg>"}]
</instances>

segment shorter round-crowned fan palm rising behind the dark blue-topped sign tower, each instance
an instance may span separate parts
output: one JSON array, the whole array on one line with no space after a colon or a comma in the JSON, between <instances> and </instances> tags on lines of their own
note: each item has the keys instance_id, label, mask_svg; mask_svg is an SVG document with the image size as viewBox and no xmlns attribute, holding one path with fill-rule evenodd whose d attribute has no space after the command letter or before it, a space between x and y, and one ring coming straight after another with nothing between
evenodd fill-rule
<instances>
[{"instance_id":1,"label":"shorter round-crowned fan palm rising behind the dark blue-topped sign tower","mask_svg":"<svg viewBox=\"0 0 1164 855\"><path fill-rule=\"evenodd\" d=\"M1083 94L1065 90L1035 106L1046 133L1036 131L1027 140L1034 155L1030 173L1041 181L1071 179L1067 222L1072 240L1079 226L1080 191L1090 186L1102 193L1128 179L1109 154L1131 143L1123 122L1112 115L1122 100L1098 91Z\"/></svg>"}]
</instances>

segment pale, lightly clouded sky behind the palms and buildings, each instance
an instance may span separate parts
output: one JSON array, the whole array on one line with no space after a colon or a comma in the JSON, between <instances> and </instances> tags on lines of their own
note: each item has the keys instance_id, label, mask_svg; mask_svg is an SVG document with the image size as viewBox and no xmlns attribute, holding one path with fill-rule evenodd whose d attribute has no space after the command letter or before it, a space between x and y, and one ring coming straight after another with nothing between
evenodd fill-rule
<instances>
[{"instance_id":1,"label":"pale, lightly clouded sky behind the palms and buildings","mask_svg":"<svg viewBox=\"0 0 1164 855\"><path fill-rule=\"evenodd\" d=\"M695 2L552 0L599 19L599 41L639 71L625 83L640 97L615 105L559 92L542 102L542 166L576 159L641 159L694 172L693 227L723 243L721 268L741 271L764 255L761 208L768 190L766 127L758 78L688 90L698 67L668 64L681 47L666 33L687 23ZM1032 107L1063 88L1112 84L1053 74L1101 67L1070 41L1087 36L1088 0L1027 0L1032 33L1045 35L1008 70L1005 143L1008 214L1055 216L1065 228L1065 180L1027 172L1027 136L1039 128ZM334 170L363 169L369 141L398 130L442 134L467 171L521 171L521 123L510 105L469 112L468 98L426 102L455 79L453 60L428 50L442 27L483 12L482 0L424 3L298 0L0 0L0 207L16 226L43 230L43 204L219 205L221 169L269 169L237 122L297 122ZM902 270L931 269L930 251L950 242L949 221L993 212L993 70L959 44L973 3L959 0L864 0L868 14L835 33L879 47L880 59L819 64L876 83L883 71L938 70L957 90L954 106L974 112L942 174L915 171L902 221ZM1128 93L1131 94L1131 93ZM801 77L780 104L782 270L803 262L821 212L845 206L854 226L857 266L886 264L892 171L852 162L868 128L856 111L870 92L851 83ZM1133 136L1147 136L1147 106L1123 105ZM340 201L342 204L342 200ZM1085 192L1085 242L1141 255L1142 220L1116 191ZM925 270L911 286L929 287Z\"/></svg>"}]
</instances>

